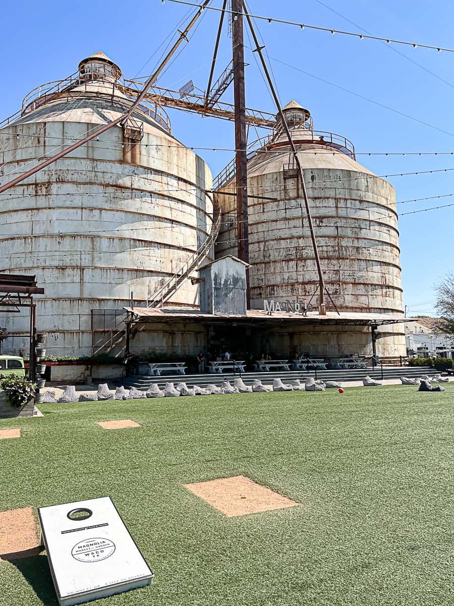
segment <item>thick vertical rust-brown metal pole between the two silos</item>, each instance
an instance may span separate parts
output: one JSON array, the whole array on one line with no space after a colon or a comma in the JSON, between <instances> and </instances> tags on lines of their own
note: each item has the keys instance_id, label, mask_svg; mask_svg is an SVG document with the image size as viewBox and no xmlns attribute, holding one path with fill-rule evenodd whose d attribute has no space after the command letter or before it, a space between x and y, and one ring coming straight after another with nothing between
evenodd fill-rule
<instances>
[{"instance_id":1,"label":"thick vertical rust-brown metal pole between the two silos","mask_svg":"<svg viewBox=\"0 0 454 606\"><path fill-rule=\"evenodd\" d=\"M246 159L245 53L243 42L243 0L232 0L233 85L235 102L235 164L237 185L238 258L249 263L248 165ZM246 271L246 297L249 308L251 292Z\"/></svg>"}]
</instances>

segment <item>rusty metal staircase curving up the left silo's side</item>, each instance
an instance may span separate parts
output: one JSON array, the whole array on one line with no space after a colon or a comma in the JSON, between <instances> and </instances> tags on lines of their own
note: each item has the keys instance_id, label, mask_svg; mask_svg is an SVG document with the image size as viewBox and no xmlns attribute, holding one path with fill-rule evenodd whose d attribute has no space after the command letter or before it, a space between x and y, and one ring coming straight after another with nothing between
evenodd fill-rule
<instances>
[{"instance_id":1,"label":"rusty metal staircase curving up the left silo's side","mask_svg":"<svg viewBox=\"0 0 454 606\"><path fill-rule=\"evenodd\" d=\"M173 296L176 291L180 288L183 282L189 278L191 272L199 267L200 262L209 255L209 251L214 246L214 242L219 234L221 226L221 211L219 204L213 199L213 216L211 231L208 238L203 244L194 252L194 254L186 261L186 263L180 267L171 278L165 282L158 290L147 299L146 307L162 307L162 305ZM100 336L96 339L93 335L93 343L91 348L91 355L99 356L102 354L112 354L116 358L119 358L125 351L125 338L126 338L126 324L124 321L108 331L107 335Z\"/></svg>"}]
</instances>

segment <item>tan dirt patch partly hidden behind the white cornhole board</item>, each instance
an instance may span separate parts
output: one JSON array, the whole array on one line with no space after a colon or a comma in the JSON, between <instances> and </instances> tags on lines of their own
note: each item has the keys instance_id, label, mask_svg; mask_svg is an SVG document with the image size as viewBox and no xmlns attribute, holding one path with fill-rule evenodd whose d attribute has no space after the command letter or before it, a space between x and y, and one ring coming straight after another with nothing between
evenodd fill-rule
<instances>
[{"instance_id":1,"label":"tan dirt patch partly hidden behind the white cornhole board","mask_svg":"<svg viewBox=\"0 0 454 606\"><path fill-rule=\"evenodd\" d=\"M0 558L28 558L42 550L36 537L33 508L0 511Z\"/></svg>"}]
</instances>

